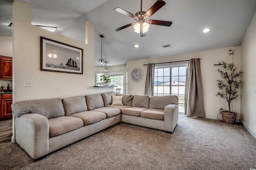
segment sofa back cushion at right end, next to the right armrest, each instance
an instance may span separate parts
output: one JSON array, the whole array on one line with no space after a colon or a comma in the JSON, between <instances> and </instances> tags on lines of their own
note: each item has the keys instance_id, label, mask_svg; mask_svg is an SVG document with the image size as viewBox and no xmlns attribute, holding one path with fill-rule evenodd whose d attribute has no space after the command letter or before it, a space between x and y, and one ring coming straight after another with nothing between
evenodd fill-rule
<instances>
[{"instance_id":1,"label":"sofa back cushion at right end, next to the right armrest","mask_svg":"<svg viewBox=\"0 0 256 170\"><path fill-rule=\"evenodd\" d=\"M149 108L164 109L169 104L178 105L178 97L176 95L151 96L149 101Z\"/></svg>"}]
</instances>

